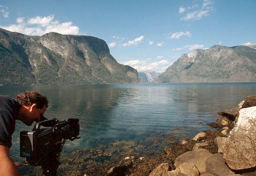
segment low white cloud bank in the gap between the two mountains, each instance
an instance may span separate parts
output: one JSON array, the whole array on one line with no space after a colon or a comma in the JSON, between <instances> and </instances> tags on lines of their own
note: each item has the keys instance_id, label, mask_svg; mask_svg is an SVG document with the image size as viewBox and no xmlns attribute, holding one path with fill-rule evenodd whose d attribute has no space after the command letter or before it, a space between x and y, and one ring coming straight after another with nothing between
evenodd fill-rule
<instances>
[{"instance_id":1,"label":"low white cloud bank in the gap between the two mountains","mask_svg":"<svg viewBox=\"0 0 256 176\"><path fill-rule=\"evenodd\" d=\"M137 71L155 71L159 73L163 73L168 67L171 66L171 62L168 62L167 60L160 60L159 62L152 62L148 63L145 60L130 60L128 62L121 62L121 64L124 65L130 65Z\"/></svg>"}]
</instances>

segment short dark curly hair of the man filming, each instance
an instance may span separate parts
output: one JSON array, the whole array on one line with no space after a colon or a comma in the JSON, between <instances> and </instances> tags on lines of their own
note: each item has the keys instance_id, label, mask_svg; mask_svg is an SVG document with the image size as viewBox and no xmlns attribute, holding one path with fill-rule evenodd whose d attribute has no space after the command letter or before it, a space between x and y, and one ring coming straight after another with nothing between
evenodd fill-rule
<instances>
[{"instance_id":1,"label":"short dark curly hair of the man filming","mask_svg":"<svg viewBox=\"0 0 256 176\"><path fill-rule=\"evenodd\" d=\"M42 109L44 105L48 107L48 100L46 96L39 94L36 91L25 91L18 94L15 98L21 100L21 103L25 106L36 104L39 109Z\"/></svg>"}]
</instances>

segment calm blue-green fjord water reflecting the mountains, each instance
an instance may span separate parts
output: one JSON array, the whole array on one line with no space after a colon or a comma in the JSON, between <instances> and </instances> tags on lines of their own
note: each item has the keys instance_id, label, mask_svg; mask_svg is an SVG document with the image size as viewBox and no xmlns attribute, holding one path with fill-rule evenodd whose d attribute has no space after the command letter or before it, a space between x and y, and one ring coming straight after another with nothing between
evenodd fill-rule
<instances>
[{"instance_id":1,"label":"calm blue-green fjord water reflecting the mountains","mask_svg":"<svg viewBox=\"0 0 256 176\"><path fill-rule=\"evenodd\" d=\"M256 83L164 83L100 85L1 86L0 94L14 97L26 90L45 94L45 116L63 121L80 119L80 137L67 141L63 155L115 141L143 141L154 134L182 132L193 137L209 129L217 111L236 107L256 93ZM34 124L33 124L34 125ZM16 122L11 148L19 157L19 132L31 130Z\"/></svg>"}]
</instances>

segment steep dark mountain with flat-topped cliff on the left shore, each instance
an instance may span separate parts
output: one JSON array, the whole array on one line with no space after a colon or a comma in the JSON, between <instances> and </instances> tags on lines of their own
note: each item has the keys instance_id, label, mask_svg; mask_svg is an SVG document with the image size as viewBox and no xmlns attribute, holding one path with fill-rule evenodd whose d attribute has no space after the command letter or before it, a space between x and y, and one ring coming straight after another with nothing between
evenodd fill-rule
<instances>
[{"instance_id":1,"label":"steep dark mountain with flat-topped cliff on the left shore","mask_svg":"<svg viewBox=\"0 0 256 176\"><path fill-rule=\"evenodd\" d=\"M0 85L137 83L137 70L119 64L106 42L91 36L41 37L0 28Z\"/></svg>"}]
</instances>

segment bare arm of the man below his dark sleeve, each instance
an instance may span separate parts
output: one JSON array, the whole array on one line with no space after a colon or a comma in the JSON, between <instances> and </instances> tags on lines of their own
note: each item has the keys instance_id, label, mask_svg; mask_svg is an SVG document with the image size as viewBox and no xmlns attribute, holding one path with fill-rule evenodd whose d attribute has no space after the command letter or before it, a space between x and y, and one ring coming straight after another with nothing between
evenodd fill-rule
<instances>
[{"instance_id":1,"label":"bare arm of the man below his dark sleeve","mask_svg":"<svg viewBox=\"0 0 256 176\"><path fill-rule=\"evenodd\" d=\"M20 176L9 151L7 146L0 145L0 176Z\"/></svg>"}]
</instances>

